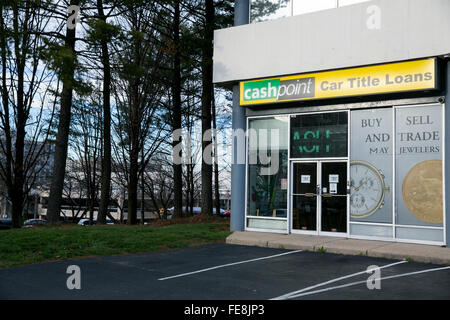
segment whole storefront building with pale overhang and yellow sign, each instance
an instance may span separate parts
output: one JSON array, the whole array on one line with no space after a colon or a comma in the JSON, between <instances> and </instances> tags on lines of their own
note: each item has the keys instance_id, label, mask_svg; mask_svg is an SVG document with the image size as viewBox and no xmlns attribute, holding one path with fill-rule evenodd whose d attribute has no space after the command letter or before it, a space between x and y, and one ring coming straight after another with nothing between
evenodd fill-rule
<instances>
[{"instance_id":1,"label":"whole storefront building with pale overhang and yellow sign","mask_svg":"<svg viewBox=\"0 0 450 320\"><path fill-rule=\"evenodd\" d=\"M232 230L448 245L450 1L268 2L290 15L247 24L261 15L236 1L215 33L246 132Z\"/></svg>"}]
</instances>

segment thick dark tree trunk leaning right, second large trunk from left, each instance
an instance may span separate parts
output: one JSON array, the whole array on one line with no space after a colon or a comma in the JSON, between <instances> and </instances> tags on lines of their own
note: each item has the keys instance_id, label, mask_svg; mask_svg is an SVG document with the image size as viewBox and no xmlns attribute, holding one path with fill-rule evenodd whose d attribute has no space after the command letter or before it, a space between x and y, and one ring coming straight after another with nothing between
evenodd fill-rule
<instances>
[{"instance_id":1,"label":"thick dark tree trunk leaning right, second large trunk from left","mask_svg":"<svg viewBox=\"0 0 450 320\"><path fill-rule=\"evenodd\" d=\"M71 0L71 5L79 5L79 0ZM61 80L63 89L61 93L61 109L59 114L58 133L55 142L55 159L50 196L48 199L47 220L50 224L59 222L64 177L66 173L67 149L69 143L70 111L72 108L73 77L75 69L75 30L66 28L65 47L70 52L63 62Z\"/></svg>"}]
</instances>

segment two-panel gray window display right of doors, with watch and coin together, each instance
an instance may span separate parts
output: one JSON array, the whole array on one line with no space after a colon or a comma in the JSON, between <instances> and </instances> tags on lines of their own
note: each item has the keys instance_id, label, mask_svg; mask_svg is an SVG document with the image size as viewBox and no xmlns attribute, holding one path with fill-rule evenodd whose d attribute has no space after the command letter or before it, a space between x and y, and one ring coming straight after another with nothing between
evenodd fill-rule
<instances>
[{"instance_id":1,"label":"two-panel gray window display right of doors, with watch and coin together","mask_svg":"<svg viewBox=\"0 0 450 320\"><path fill-rule=\"evenodd\" d=\"M352 235L443 241L442 119L442 105L351 112Z\"/></svg>"}]
</instances>

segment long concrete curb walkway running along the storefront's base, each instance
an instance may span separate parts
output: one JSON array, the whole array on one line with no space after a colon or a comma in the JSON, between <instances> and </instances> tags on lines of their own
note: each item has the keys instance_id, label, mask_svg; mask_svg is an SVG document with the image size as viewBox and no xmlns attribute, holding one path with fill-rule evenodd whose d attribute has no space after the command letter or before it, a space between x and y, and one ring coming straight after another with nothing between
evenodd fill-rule
<instances>
[{"instance_id":1,"label":"long concrete curb walkway running along the storefront's base","mask_svg":"<svg viewBox=\"0 0 450 320\"><path fill-rule=\"evenodd\" d=\"M430 245L249 231L233 232L226 243L450 265L450 248Z\"/></svg>"}]
</instances>

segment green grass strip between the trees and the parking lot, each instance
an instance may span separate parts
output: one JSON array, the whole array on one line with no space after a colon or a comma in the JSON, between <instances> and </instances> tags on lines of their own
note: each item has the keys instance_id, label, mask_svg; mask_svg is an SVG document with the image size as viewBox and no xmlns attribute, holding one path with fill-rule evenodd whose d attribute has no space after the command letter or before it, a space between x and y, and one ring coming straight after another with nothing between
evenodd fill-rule
<instances>
[{"instance_id":1,"label":"green grass strip between the trees and the parking lot","mask_svg":"<svg viewBox=\"0 0 450 320\"><path fill-rule=\"evenodd\" d=\"M229 223L59 226L0 231L0 268L223 241Z\"/></svg>"}]
</instances>

